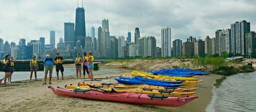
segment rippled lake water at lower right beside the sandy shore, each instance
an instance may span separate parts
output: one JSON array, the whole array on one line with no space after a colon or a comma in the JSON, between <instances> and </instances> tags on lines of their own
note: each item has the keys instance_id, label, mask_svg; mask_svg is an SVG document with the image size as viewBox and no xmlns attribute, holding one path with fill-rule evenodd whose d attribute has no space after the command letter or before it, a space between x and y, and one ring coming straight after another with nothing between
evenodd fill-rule
<instances>
[{"instance_id":1,"label":"rippled lake water at lower right beside the sandy shore","mask_svg":"<svg viewBox=\"0 0 256 112\"><path fill-rule=\"evenodd\" d=\"M213 90L206 111L256 111L256 73L228 76Z\"/></svg>"}]
</instances>

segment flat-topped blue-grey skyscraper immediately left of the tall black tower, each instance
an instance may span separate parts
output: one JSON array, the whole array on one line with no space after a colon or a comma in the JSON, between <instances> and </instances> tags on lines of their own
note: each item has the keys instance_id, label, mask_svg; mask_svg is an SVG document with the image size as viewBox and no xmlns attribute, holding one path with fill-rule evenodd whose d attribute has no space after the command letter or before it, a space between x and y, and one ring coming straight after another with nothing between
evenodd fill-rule
<instances>
[{"instance_id":1,"label":"flat-topped blue-grey skyscraper immediately left of the tall black tower","mask_svg":"<svg viewBox=\"0 0 256 112\"><path fill-rule=\"evenodd\" d=\"M75 47L75 24L71 22L64 23L64 43L65 49L69 45L71 49Z\"/></svg>"}]
</instances>

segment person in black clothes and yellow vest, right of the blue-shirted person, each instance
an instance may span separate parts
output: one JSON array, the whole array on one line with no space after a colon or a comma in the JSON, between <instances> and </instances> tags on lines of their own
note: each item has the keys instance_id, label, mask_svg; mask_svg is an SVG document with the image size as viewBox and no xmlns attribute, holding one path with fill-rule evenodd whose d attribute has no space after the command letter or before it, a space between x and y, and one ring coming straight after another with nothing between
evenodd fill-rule
<instances>
[{"instance_id":1,"label":"person in black clothes and yellow vest, right of the blue-shirted person","mask_svg":"<svg viewBox=\"0 0 256 112\"><path fill-rule=\"evenodd\" d=\"M54 63L55 63L55 65L56 65L57 77L58 77L58 79L59 79L59 71L60 71L60 72L61 72L62 79L64 79L64 78L63 78L64 67L62 66L63 58L60 57L60 53L59 53L59 52L57 52L56 55L57 55L57 56L56 56L55 59L54 59Z\"/></svg>"}]
</instances>

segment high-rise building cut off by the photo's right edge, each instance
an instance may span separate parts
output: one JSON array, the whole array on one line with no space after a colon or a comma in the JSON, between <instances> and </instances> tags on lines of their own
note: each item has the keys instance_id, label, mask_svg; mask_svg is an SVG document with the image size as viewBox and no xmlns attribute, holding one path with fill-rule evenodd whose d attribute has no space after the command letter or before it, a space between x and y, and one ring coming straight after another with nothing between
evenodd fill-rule
<instances>
[{"instance_id":1,"label":"high-rise building cut off by the photo's right edge","mask_svg":"<svg viewBox=\"0 0 256 112\"><path fill-rule=\"evenodd\" d=\"M256 53L256 34L255 31L251 31L250 33L246 33L246 54L251 55L252 53Z\"/></svg>"}]
</instances>

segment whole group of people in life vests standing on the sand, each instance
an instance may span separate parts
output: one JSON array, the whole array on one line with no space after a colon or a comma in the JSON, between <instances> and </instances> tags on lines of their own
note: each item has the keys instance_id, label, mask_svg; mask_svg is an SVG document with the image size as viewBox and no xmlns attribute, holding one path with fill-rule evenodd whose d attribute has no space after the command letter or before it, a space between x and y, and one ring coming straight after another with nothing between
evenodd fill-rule
<instances>
[{"instance_id":1,"label":"whole group of people in life vests standing on the sand","mask_svg":"<svg viewBox=\"0 0 256 112\"><path fill-rule=\"evenodd\" d=\"M17 61L13 57L11 57L9 54L4 55L4 60L1 62L4 64L3 71L5 73L5 76L3 79L0 79L0 84L4 80L4 85L6 85L6 80L8 80L9 83L11 83L11 76L14 71L14 62ZM75 68L76 68L76 78L78 79L78 73L79 73L79 78L81 78L81 69L83 65L83 79L85 79L85 72L88 74L90 81L93 81L93 74L92 74L92 69L93 69L93 61L94 57L92 56L92 52L84 52L83 58L81 58L80 54L77 53L77 57L75 59ZM49 73L49 84L51 83L52 79L52 72L53 72L53 66L56 68L57 72L57 78L59 79L59 71L61 72L61 79L63 78L63 71L64 67L62 65L63 63L63 58L60 56L60 53L56 53L56 57L53 60L49 54L45 56L44 59L44 83L43 85L46 85L46 79L47 79L47 74ZM38 70L38 62L36 60L36 56L34 55L33 58L30 60L30 81L32 80L33 73L35 74L35 80L37 80L37 70Z\"/></svg>"}]
</instances>

